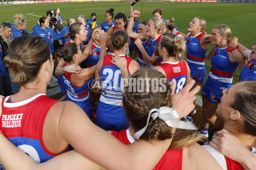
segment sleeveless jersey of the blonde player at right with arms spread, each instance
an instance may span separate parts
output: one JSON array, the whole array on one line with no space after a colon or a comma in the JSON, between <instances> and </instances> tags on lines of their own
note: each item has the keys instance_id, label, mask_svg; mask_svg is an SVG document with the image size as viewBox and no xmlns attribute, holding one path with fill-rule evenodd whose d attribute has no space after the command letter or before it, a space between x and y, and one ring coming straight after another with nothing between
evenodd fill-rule
<instances>
[{"instance_id":1,"label":"sleeveless jersey of the blonde player at right with arms spread","mask_svg":"<svg viewBox=\"0 0 256 170\"><path fill-rule=\"evenodd\" d=\"M237 48L235 48L237 49ZM233 75L238 67L238 64L233 64L229 59L229 54L234 51L225 48L218 48L212 52L212 68L209 73L206 85L212 91L216 89L224 90L232 86Z\"/></svg>"}]
</instances>

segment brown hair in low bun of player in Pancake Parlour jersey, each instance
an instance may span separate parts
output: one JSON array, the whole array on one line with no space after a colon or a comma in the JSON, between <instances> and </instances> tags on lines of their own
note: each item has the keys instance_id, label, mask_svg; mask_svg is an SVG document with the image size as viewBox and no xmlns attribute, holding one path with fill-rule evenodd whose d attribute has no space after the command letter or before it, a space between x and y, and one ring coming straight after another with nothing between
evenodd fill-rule
<instances>
[{"instance_id":1,"label":"brown hair in low bun of player in Pancake Parlour jersey","mask_svg":"<svg viewBox=\"0 0 256 170\"><path fill-rule=\"evenodd\" d=\"M25 85L38 78L41 66L50 59L49 43L42 37L23 35L15 38L4 58L12 81Z\"/></svg>"}]
</instances>

